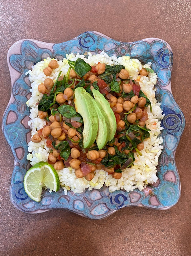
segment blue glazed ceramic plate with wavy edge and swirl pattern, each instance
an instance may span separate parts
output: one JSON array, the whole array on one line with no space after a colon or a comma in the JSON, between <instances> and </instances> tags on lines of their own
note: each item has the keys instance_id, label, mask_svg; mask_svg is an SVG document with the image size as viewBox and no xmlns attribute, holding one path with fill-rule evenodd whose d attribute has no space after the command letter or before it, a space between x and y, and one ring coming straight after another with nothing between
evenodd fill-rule
<instances>
[{"instance_id":1,"label":"blue glazed ceramic plate with wavy edge and swirl pattern","mask_svg":"<svg viewBox=\"0 0 191 256\"><path fill-rule=\"evenodd\" d=\"M122 190L109 193L108 188L86 190L81 194L71 191L67 196L58 192L43 191L39 203L32 201L24 191L23 178L30 164L27 161L27 143L30 140L29 108L25 102L30 97L30 82L25 76L34 63L47 57L62 59L66 53L87 55L88 51L98 54L104 50L108 55L129 55L142 63L152 62L157 73L156 98L165 113L162 120L164 149L157 166L158 181L148 185L143 191ZM23 212L38 213L55 208L63 208L90 219L102 219L126 206L141 206L154 209L168 209L180 198L181 186L175 152L185 127L185 118L171 92L171 72L173 54L167 42L157 38L147 38L135 42L120 42L99 32L87 31L61 44L48 44L35 40L20 40L8 52L12 94L3 116L3 132L14 156L11 178L11 202Z\"/></svg>"}]
</instances>

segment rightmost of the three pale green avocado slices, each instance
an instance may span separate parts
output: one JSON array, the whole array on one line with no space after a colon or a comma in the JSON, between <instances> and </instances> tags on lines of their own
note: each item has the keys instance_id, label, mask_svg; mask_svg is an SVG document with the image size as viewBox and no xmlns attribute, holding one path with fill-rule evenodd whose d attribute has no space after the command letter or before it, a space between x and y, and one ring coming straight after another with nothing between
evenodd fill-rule
<instances>
[{"instance_id":1,"label":"rightmost of the three pale green avocado slices","mask_svg":"<svg viewBox=\"0 0 191 256\"><path fill-rule=\"evenodd\" d=\"M110 124L110 134L108 140L110 141L114 138L117 129L114 112L111 109L109 102L105 99L104 95L102 95L98 90L95 89L92 90L92 93L95 100L101 104L102 110L106 113L106 116L108 116Z\"/></svg>"}]
</instances>

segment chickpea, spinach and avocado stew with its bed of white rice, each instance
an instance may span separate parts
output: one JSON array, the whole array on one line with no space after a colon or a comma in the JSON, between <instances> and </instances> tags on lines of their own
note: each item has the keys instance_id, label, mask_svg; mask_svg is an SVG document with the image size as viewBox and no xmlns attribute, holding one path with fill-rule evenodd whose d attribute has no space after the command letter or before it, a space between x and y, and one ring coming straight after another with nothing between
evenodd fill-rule
<instances>
[{"instance_id":1,"label":"chickpea, spinach and avocado stew with its bed of white rice","mask_svg":"<svg viewBox=\"0 0 191 256\"><path fill-rule=\"evenodd\" d=\"M163 118L152 63L104 51L47 58L29 73L31 141L27 159L47 162L61 187L81 193L157 181ZM32 167L33 168L33 167Z\"/></svg>"}]
</instances>

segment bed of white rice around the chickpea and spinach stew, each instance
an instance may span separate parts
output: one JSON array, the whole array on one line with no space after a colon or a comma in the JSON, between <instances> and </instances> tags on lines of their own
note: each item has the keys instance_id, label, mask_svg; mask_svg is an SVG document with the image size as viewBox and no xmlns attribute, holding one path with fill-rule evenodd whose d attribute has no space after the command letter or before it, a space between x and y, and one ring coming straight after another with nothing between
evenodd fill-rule
<instances>
[{"instance_id":1,"label":"bed of white rice around the chickpea and spinach stew","mask_svg":"<svg viewBox=\"0 0 191 256\"><path fill-rule=\"evenodd\" d=\"M143 93L149 98L152 104L152 113L150 108L147 107L149 119L146 121L147 128L150 129L150 138L144 140L144 149L141 151L142 156L134 153L135 162L134 166L127 168L122 172L122 178L116 180L112 178L111 175L108 175L104 170L96 170L95 176L91 181L87 181L85 178L76 179L75 170L71 167L64 168L63 170L57 171L60 179L60 184L67 194L67 190L72 190L75 193L81 193L83 190L88 188L89 190L100 189L104 184L109 187L110 192L115 190L125 189L126 191L131 191L135 188L142 190L147 186L148 183L153 183L157 181L156 175L156 166L158 164L158 157L162 152L163 140L160 136L161 130L163 129L161 124L161 119L164 117L162 110L160 108L160 103L157 103L155 98L154 85L157 82L156 73L149 72L148 77L140 76L138 72L142 67L150 68L151 62L148 62L144 66L139 62L138 59L130 59L130 57L124 56L117 58L116 56L109 57L104 51L100 54L92 55L89 53L88 58L85 58L84 55L77 54L76 56L72 53L69 55L66 54L66 58L59 60L59 67L54 69L51 76L54 81L56 80L59 71L62 71L62 75L66 74L69 68L67 59L76 60L77 58L82 58L85 62L93 65L94 63L105 63L109 65L122 64L129 71L130 76L133 79L139 80L139 84ZM42 98L43 94L38 92L38 85L41 82L44 82L47 78L43 69L48 66L48 63L51 61L51 58L44 59L43 61L37 63L32 67L32 71L28 71L29 80L32 83L30 89L32 96L27 101L28 107L30 107L30 121L28 122L31 128L32 136L37 134L37 130L43 128L46 122L38 117L38 106L36 103ZM31 161L31 164L34 165L40 161L47 161L48 154L50 149L46 146L46 139L42 139L40 143L28 143L28 151L30 152L27 156L27 159Z\"/></svg>"}]
</instances>

